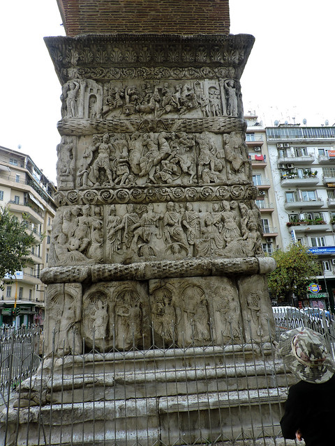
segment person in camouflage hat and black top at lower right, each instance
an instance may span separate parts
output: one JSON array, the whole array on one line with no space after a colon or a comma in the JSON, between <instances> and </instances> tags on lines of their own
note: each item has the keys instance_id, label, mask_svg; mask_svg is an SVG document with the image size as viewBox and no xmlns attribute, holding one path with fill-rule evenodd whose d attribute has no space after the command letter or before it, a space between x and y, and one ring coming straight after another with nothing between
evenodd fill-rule
<instances>
[{"instance_id":1,"label":"person in camouflage hat and black top at lower right","mask_svg":"<svg viewBox=\"0 0 335 446\"><path fill-rule=\"evenodd\" d=\"M299 383L290 387L281 419L284 438L306 446L334 445L335 364L320 333L309 328L283 332L278 348L285 366Z\"/></svg>"}]
</instances>

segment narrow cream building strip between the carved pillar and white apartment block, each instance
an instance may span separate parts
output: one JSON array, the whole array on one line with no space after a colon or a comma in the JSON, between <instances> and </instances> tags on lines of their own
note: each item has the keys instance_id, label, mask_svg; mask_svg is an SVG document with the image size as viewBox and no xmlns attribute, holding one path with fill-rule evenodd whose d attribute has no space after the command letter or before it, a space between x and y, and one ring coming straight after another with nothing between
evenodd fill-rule
<instances>
[{"instance_id":1,"label":"narrow cream building strip between the carved pillar and white apartment block","mask_svg":"<svg viewBox=\"0 0 335 446\"><path fill-rule=\"evenodd\" d=\"M272 254L281 246L281 233L278 229L276 200L272 181L269 152L267 149L267 134L258 116L244 116L248 125L246 130L246 145L248 156L253 167L253 184L258 189L256 204L260 209L263 237L262 247L267 254Z\"/></svg>"}]
</instances>

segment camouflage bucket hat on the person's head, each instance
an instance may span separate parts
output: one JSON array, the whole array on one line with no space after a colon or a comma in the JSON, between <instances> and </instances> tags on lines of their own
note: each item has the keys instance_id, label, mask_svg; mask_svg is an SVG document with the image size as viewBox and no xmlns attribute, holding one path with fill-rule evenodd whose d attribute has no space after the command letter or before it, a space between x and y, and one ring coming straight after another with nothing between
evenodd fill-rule
<instances>
[{"instance_id":1,"label":"camouflage bucket hat on the person's head","mask_svg":"<svg viewBox=\"0 0 335 446\"><path fill-rule=\"evenodd\" d=\"M325 383L335 372L335 364L324 337L310 328L283 332L278 348L285 366L308 383Z\"/></svg>"}]
</instances>

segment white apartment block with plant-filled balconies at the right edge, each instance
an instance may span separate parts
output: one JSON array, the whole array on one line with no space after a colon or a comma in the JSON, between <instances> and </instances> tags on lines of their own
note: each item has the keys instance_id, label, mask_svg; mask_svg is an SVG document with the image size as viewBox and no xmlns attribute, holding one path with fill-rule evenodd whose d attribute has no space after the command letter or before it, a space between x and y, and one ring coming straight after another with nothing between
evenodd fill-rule
<instances>
[{"instance_id":1,"label":"white apartment block with plant-filled balconies at the right edge","mask_svg":"<svg viewBox=\"0 0 335 446\"><path fill-rule=\"evenodd\" d=\"M301 305L334 306L335 127L278 125L266 139L282 247L300 241L322 268L320 290Z\"/></svg>"}]
</instances>

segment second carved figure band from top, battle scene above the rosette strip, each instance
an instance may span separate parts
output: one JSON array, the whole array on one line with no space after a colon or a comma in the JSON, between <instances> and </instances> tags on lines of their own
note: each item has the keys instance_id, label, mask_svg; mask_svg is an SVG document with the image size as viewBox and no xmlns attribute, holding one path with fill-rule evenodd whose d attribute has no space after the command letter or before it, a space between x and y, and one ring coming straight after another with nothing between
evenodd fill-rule
<instances>
[{"instance_id":1,"label":"second carved figure band from top, battle scene above the rosette strip","mask_svg":"<svg viewBox=\"0 0 335 446\"><path fill-rule=\"evenodd\" d=\"M251 181L241 132L223 136L210 132L105 132L80 138L76 151L74 137L63 138L59 145L60 188L70 185L62 175L75 159L78 189Z\"/></svg>"}]
</instances>

